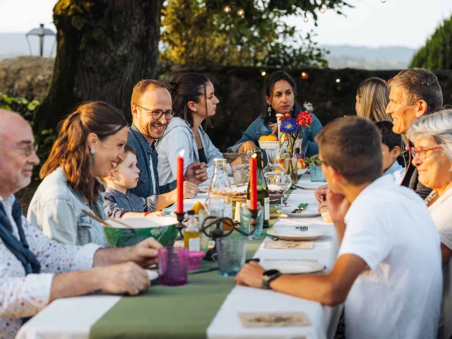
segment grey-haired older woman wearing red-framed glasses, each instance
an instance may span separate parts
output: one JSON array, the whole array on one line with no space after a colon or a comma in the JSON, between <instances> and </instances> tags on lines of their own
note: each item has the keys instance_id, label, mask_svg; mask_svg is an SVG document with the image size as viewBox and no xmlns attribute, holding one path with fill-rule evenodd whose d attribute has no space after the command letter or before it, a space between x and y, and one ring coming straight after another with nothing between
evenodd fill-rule
<instances>
[{"instance_id":1,"label":"grey-haired older woman wearing red-framed glasses","mask_svg":"<svg viewBox=\"0 0 452 339\"><path fill-rule=\"evenodd\" d=\"M419 181L432 189L425 199L441 237L443 309L438 338L452 335L452 110L429 114L412 123L408 138Z\"/></svg>"}]
</instances>

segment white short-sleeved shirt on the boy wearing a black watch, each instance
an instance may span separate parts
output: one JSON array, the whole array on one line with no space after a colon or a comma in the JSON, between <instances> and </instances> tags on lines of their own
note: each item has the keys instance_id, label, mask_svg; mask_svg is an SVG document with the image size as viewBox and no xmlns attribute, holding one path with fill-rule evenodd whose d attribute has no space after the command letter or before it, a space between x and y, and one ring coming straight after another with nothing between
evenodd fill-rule
<instances>
[{"instance_id":1,"label":"white short-sleeved shirt on the boy wearing a black watch","mask_svg":"<svg viewBox=\"0 0 452 339\"><path fill-rule=\"evenodd\" d=\"M439 234L414 191L388 175L353 201L338 256L367 263L345 301L347 339L435 338L441 307Z\"/></svg>"}]
</instances>

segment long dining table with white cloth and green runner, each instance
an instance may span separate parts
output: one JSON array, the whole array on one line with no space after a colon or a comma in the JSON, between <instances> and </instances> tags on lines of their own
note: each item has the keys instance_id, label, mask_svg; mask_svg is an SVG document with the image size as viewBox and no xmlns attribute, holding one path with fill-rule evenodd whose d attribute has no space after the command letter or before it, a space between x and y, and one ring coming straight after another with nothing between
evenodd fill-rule
<instances>
[{"instance_id":1,"label":"long dining table with white cloth and green runner","mask_svg":"<svg viewBox=\"0 0 452 339\"><path fill-rule=\"evenodd\" d=\"M307 183L309 175L304 175L299 184ZM205 198L200 195L184 204L189 208ZM314 191L302 189L292 191L287 203L317 204ZM321 218L282 218L276 209L271 208L270 220L275 230L301 224L329 234L314 241L314 249L264 249L268 239L254 240L247 244L247 257L314 259L331 270L338 253L333 225ZM213 265L203 262L201 268ZM189 275L189 284L182 287L152 285L137 297L88 295L56 300L25 323L16 338L333 338L341 310L271 290L235 286L234 277L213 271ZM242 328L237 316L278 311L304 312L311 326Z\"/></svg>"}]
</instances>

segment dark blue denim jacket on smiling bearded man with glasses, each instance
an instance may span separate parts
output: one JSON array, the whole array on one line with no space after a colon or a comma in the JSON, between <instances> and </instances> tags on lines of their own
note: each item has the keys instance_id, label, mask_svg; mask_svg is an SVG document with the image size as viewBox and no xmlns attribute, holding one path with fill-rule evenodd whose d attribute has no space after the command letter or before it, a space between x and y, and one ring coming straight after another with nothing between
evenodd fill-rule
<instances>
[{"instance_id":1,"label":"dark blue denim jacket on smiling bearded man with glasses","mask_svg":"<svg viewBox=\"0 0 452 339\"><path fill-rule=\"evenodd\" d=\"M146 138L131 124L129 131L127 131L127 144L130 145L136 152L136 159L138 161L137 167L140 169L140 179L138 185L131 189L131 193L141 198L148 198L153 195L153 180L151 179L152 172L150 171L150 160L152 159L154 170L154 182L157 185L155 194L163 194L176 189L176 182L159 186L158 169L157 169L157 151L155 150L155 143L149 145Z\"/></svg>"}]
</instances>

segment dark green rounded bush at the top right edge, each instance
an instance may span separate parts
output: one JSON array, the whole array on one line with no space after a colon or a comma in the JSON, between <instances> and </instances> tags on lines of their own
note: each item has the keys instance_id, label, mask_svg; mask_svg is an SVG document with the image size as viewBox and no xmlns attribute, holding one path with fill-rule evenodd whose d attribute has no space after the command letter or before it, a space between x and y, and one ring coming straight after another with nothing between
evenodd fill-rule
<instances>
[{"instance_id":1,"label":"dark green rounded bush at the top right edge","mask_svg":"<svg viewBox=\"0 0 452 339\"><path fill-rule=\"evenodd\" d=\"M411 67L424 69L452 69L452 16L436 28L412 58Z\"/></svg>"}]
</instances>

